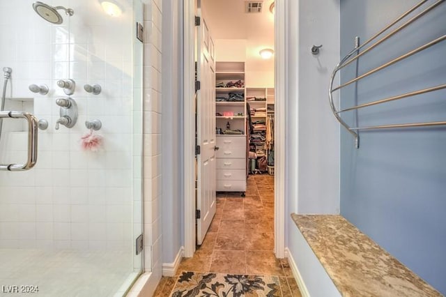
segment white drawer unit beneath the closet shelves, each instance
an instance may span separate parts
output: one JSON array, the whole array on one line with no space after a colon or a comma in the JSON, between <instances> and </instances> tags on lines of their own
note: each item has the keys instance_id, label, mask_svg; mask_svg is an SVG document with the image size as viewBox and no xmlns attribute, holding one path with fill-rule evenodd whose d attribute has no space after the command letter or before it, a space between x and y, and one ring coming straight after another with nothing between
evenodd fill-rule
<instances>
[{"instance_id":1,"label":"white drawer unit beneath the closet shelves","mask_svg":"<svg viewBox=\"0 0 446 297\"><path fill-rule=\"evenodd\" d=\"M246 135L217 135L217 191L246 191Z\"/></svg>"}]
</instances>

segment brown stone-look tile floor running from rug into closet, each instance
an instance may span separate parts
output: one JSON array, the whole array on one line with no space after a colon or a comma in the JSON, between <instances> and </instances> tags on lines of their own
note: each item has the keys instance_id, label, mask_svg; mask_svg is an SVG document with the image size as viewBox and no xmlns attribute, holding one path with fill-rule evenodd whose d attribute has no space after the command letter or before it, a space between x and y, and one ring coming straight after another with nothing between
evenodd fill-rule
<instances>
[{"instance_id":1,"label":"brown stone-look tile floor running from rug into closet","mask_svg":"<svg viewBox=\"0 0 446 297\"><path fill-rule=\"evenodd\" d=\"M217 194L217 213L194 257L184 258L182 271L277 275L282 296L299 297L300 291L286 259L274 252L274 176L251 175L246 197ZM162 277L156 297L169 296L176 277Z\"/></svg>"}]
</instances>

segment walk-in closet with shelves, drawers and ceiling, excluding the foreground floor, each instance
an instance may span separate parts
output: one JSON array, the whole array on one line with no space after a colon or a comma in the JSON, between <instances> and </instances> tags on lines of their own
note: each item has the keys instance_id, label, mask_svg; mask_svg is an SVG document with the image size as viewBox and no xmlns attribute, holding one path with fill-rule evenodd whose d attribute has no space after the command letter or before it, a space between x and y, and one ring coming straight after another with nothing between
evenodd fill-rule
<instances>
[{"instance_id":1,"label":"walk-in closet with shelves, drawers and ceiling, excluding the foreground floor","mask_svg":"<svg viewBox=\"0 0 446 297\"><path fill-rule=\"evenodd\" d=\"M216 190L274 178L274 1L201 1L215 56ZM272 189L274 190L274 189Z\"/></svg>"}]
</instances>

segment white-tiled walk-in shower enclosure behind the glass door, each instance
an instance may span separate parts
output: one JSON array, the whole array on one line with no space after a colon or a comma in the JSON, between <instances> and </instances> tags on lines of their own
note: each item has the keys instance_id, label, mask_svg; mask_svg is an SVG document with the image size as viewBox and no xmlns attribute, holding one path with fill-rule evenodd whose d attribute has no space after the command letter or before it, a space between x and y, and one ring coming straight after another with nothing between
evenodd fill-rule
<instances>
[{"instance_id":1,"label":"white-tiled walk-in shower enclosure behind the glass door","mask_svg":"<svg viewBox=\"0 0 446 297\"><path fill-rule=\"evenodd\" d=\"M0 1L0 74L13 70L0 82L3 294L123 296L142 271L144 51L134 24L144 20L141 0L121 2L124 13L109 17L98 0ZM73 102L77 121L56 130ZM36 165L22 171L9 166L29 154L20 114L48 123L35 129Z\"/></svg>"}]
</instances>

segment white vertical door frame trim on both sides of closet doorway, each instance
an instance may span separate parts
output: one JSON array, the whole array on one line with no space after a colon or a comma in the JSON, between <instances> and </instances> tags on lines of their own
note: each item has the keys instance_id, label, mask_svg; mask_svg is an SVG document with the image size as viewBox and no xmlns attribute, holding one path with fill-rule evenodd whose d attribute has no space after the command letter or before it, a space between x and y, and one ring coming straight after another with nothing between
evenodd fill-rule
<instances>
[{"instance_id":1,"label":"white vertical door frame trim on both sides of closet doorway","mask_svg":"<svg viewBox=\"0 0 446 297\"><path fill-rule=\"evenodd\" d=\"M195 252L195 1L184 2L184 256ZM286 100L286 18L287 0L275 1L275 255L285 257L285 100ZM281 98L281 100L277 100Z\"/></svg>"}]
</instances>

